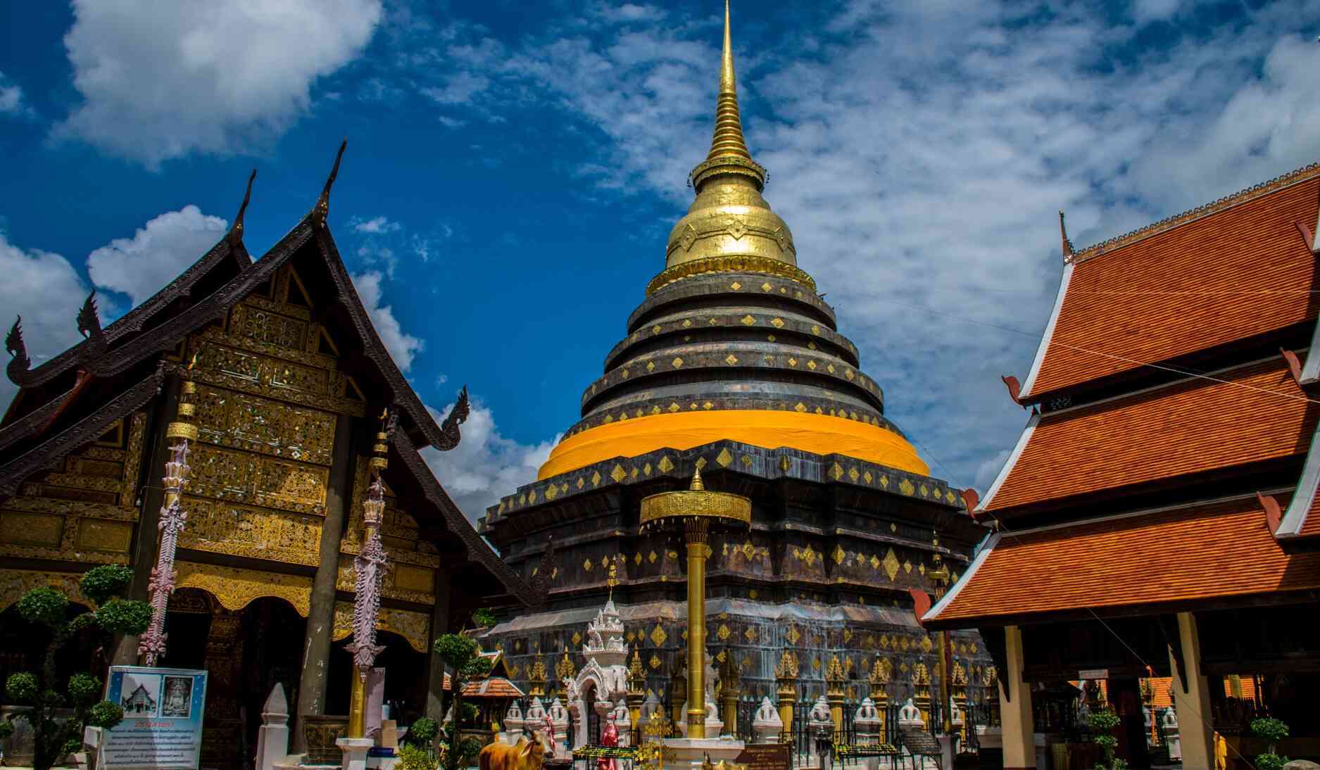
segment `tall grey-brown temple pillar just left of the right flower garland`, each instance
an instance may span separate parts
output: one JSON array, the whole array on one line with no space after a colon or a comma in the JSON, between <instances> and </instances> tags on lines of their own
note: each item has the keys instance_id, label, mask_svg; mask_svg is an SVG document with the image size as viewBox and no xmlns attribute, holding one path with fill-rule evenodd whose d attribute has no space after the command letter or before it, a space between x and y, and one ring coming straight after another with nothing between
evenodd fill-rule
<instances>
[{"instance_id":1,"label":"tall grey-brown temple pillar just left of the right flower garland","mask_svg":"<svg viewBox=\"0 0 1320 770\"><path fill-rule=\"evenodd\" d=\"M326 515L321 522L321 561L312 580L312 608L302 642L302 675L298 680L298 717L325 713L326 676L330 668L330 635L334 631L335 581L339 577L339 539L355 490L352 481L352 417L339 415L334 432L334 464L326 486ZM360 490L356 490L360 491ZM306 752L302 725L293 730L293 753Z\"/></svg>"}]
</instances>

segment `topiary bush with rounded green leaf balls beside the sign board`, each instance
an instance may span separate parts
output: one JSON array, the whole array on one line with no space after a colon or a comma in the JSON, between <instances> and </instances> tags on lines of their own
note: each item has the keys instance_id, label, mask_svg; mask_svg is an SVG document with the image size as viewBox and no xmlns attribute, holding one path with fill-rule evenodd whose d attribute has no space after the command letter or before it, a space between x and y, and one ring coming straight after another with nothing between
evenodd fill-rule
<instances>
[{"instance_id":1,"label":"topiary bush with rounded green leaf balls beside the sign board","mask_svg":"<svg viewBox=\"0 0 1320 770\"><path fill-rule=\"evenodd\" d=\"M55 659L61 647L75 634L90 631L141 634L150 623L152 609L144 601L120 598L132 572L127 567L107 565L90 569L79 588L96 609L69 618L69 597L54 588L34 588L18 600L18 614L50 629L50 642L40 672L21 671L5 682L5 696L20 707L9 720L26 720L32 725L33 770L50 770L66 754L82 746L84 726L112 728L124 718L124 709L102 700L102 682L90 674L74 674L57 682ZM108 639L106 639L108 646ZM59 685L63 684L63 688ZM55 711L73 708L73 716L57 718ZM13 733L13 725L0 724L0 738Z\"/></svg>"}]
</instances>

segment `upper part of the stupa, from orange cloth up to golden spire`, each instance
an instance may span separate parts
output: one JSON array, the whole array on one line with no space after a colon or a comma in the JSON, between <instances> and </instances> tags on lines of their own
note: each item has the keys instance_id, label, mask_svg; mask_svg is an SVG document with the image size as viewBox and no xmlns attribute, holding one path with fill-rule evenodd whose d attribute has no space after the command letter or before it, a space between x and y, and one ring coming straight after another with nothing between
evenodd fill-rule
<instances>
[{"instance_id":1,"label":"upper part of the stupa, from orange cloth up to golden spire","mask_svg":"<svg viewBox=\"0 0 1320 770\"><path fill-rule=\"evenodd\" d=\"M726 1L714 139L690 176L697 197L628 335L583 394L582 420L539 478L718 440L929 473L797 267L792 231L762 197L766 178L743 137Z\"/></svg>"}]
</instances>

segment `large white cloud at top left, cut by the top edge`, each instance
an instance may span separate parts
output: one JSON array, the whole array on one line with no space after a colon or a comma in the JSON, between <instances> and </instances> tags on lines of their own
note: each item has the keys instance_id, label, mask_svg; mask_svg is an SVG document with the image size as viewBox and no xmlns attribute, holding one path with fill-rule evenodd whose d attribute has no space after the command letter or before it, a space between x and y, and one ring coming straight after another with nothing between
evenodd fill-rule
<instances>
[{"instance_id":1,"label":"large white cloud at top left, cut by the top edge","mask_svg":"<svg viewBox=\"0 0 1320 770\"><path fill-rule=\"evenodd\" d=\"M83 103L55 135L150 168L268 147L380 17L380 0L74 0L65 48Z\"/></svg>"}]
</instances>

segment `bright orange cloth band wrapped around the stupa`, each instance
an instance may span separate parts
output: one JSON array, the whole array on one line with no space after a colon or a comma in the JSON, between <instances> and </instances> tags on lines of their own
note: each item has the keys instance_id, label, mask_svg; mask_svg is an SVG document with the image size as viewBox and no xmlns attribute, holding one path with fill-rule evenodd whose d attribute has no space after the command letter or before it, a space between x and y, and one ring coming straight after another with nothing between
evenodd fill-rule
<instances>
[{"instance_id":1,"label":"bright orange cloth band wrapped around the stupa","mask_svg":"<svg viewBox=\"0 0 1320 770\"><path fill-rule=\"evenodd\" d=\"M656 449L692 449L721 440L764 449L787 446L813 454L846 454L921 475L931 473L916 449L887 428L829 415L729 409L651 415L590 428L561 441L537 478L614 457L638 457Z\"/></svg>"}]
</instances>

